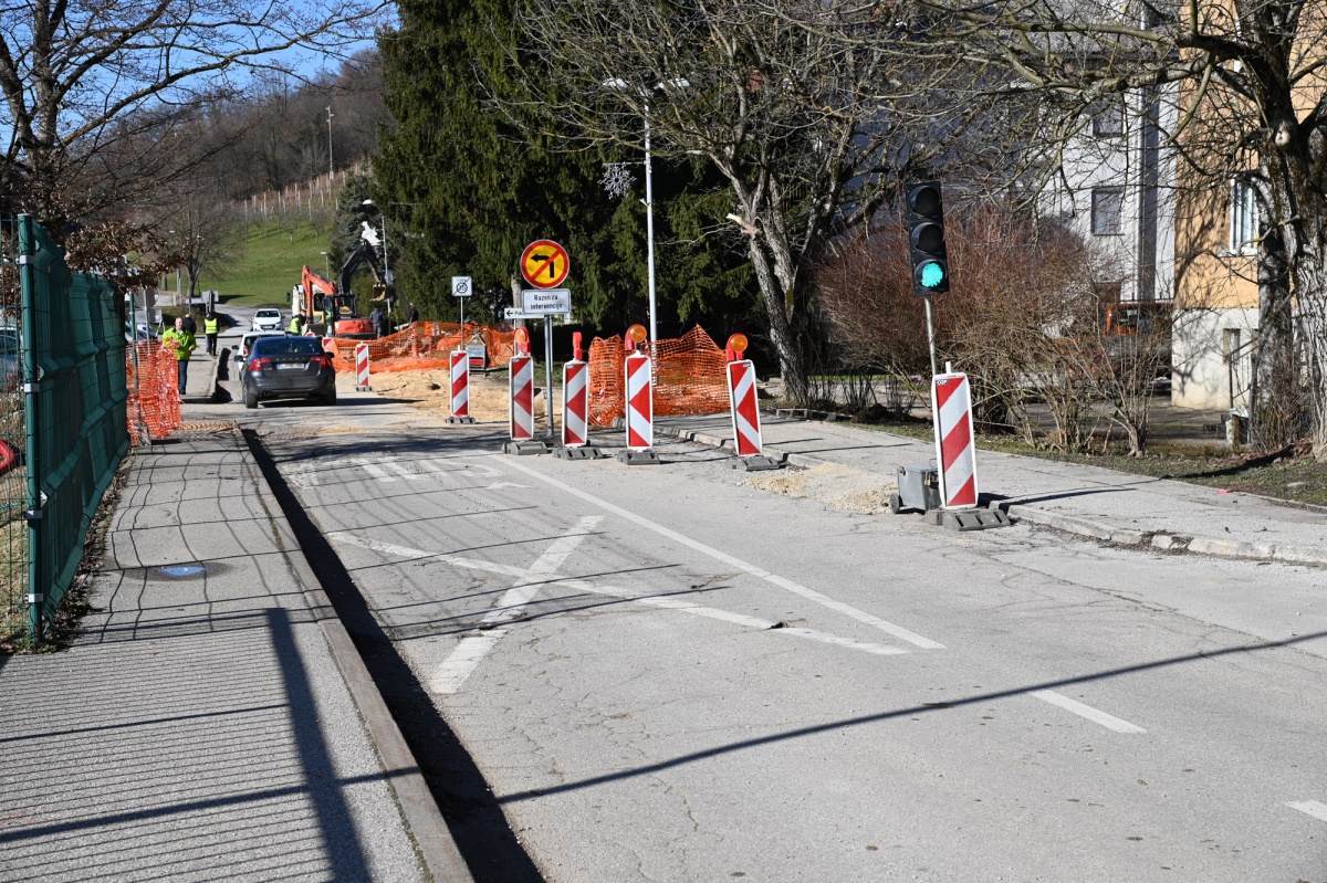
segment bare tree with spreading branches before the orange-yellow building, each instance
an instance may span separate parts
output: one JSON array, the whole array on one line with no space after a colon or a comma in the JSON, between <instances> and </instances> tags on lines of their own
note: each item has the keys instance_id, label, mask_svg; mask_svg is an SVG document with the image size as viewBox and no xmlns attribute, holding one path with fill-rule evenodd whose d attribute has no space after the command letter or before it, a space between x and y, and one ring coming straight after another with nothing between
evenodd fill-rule
<instances>
[{"instance_id":1,"label":"bare tree with spreading branches before the orange-yellow building","mask_svg":"<svg viewBox=\"0 0 1327 883\"><path fill-rule=\"evenodd\" d=\"M1259 334L1257 412L1294 396L1307 378L1314 452L1327 457L1327 16L1308 0L1176 0L1143 4L922 0L932 27L900 33L896 4L872 0L845 15L900 46L949 46L1005 70L1009 94L1040 101L1042 137L1030 167L1055 168L1109 95L1177 102L1168 134L1181 186L1221 194L1254 188ZM859 38L845 30L845 40ZM1298 316L1294 313L1298 308ZM1296 334L1298 331L1298 334ZM1298 338L1303 363L1294 365Z\"/></svg>"}]
</instances>

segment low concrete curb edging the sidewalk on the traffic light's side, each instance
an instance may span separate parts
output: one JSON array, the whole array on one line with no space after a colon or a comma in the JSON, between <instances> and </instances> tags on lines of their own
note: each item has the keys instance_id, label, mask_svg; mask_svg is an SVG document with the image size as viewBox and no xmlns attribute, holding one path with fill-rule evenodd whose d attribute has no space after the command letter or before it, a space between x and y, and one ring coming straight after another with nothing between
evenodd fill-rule
<instances>
[{"instance_id":1,"label":"low concrete curb edging the sidewalk on the traffic light's side","mask_svg":"<svg viewBox=\"0 0 1327 883\"><path fill-rule=\"evenodd\" d=\"M709 444L711 447L731 451L733 440L719 438L706 432L693 430L674 430L666 426L654 426L654 431L686 442ZM786 453L774 448L767 448L766 453L776 460L783 460L791 465L812 468L828 463L819 457L804 453ZM1275 545L1261 542L1242 542L1239 540L1223 540L1218 537L1186 537L1165 530L1139 530L1136 528L1119 528L1082 516L1070 516L1059 512L1047 512L1035 506L1019 504L1002 504L1002 509L1019 521L1027 521L1043 528L1052 528L1080 537L1101 540L1116 546L1139 548L1148 546L1161 552L1192 552L1194 554L1214 556L1218 558L1239 558L1246 561L1279 561L1282 563L1298 565L1327 565L1327 550L1310 549L1304 546Z\"/></svg>"}]
</instances>

